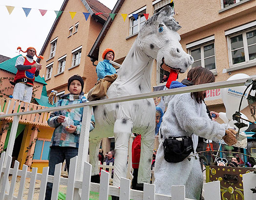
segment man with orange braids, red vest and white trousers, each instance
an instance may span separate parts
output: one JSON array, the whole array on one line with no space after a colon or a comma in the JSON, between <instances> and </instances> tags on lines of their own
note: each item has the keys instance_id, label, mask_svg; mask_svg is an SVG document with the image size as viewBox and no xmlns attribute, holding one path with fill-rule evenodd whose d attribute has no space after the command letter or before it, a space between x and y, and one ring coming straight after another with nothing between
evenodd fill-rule
<instances>
[{"instance_id":1,"label":"man with orange braids, red vest and white trousers","mask_svg":"<svg viewBox=\"0 0 256 200\"><path fill-rule=\"evenodd\" d=\"M18 47L17 50L22 51L21 47ZM30 103L35 77L39 75L42 65L33 60L34 55L37 56L34 47L28 47L23 53L27 53L27 55L19 56L15 63L18 72L14 78L13 98ZM42 55L37 57L43 59Z\"/></svg>"}]
</instances>

